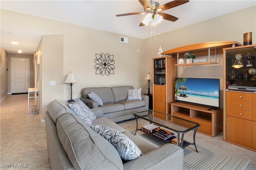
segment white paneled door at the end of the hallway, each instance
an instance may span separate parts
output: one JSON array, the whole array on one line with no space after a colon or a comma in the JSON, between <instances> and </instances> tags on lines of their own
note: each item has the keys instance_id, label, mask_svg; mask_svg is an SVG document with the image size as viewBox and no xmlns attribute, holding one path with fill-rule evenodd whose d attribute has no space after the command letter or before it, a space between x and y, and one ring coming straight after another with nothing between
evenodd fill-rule
<instances>
[{"instance_id":1,"label":"white paneled door at the end of the hallway","mask_svg":"<svg viewBox=\"0 0 256 170\"><path fill-rule=\"evenodd\" d=\"M12 93L28 92L29 59L12 58Z\"/></svg>"}]
</instances>

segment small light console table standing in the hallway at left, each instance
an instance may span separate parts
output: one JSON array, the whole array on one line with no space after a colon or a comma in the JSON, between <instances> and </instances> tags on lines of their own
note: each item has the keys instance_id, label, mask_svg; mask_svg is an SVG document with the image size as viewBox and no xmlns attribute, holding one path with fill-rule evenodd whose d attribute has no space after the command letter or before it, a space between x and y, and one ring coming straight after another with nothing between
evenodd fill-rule
<instances>
[{"instance_id":1,"label":"small light console table standing in the hallway at left","mask_svg":"<svg viewBox=\"0 0 256 170\"><path fill-rule=\"evenodd\" d=\"M33 105L30 106L31 103ZM38 90L38 88L28 88L28 114L32 114L32 113L39 113L39 90Z\"/></svg>"}]
</instances>

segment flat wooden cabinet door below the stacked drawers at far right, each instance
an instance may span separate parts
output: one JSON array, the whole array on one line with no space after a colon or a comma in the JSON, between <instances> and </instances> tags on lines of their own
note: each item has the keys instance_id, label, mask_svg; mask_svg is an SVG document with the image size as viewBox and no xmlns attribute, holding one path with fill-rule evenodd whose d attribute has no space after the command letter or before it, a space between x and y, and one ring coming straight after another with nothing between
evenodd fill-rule
<instances>
[{"instance_id":1,"label":"flat wooden cabinet door below the stacked drawers at far right","mask_svg":"<svg viewBox=\"0 0 256 170\"><path fill-rule=\"evenodd\" d=\"M252 121L231 117L231 141L252 148Z\"/></svg>"}]
</instances>

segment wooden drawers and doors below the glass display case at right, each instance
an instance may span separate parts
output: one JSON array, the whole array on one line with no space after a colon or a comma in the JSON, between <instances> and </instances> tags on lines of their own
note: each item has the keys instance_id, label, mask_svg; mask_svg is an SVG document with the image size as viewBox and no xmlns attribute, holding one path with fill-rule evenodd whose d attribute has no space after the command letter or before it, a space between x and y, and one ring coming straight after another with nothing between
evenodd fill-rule
<instances>
[{"instance_id":1,"label":"wooden drawers and doors below the glass display case at right","mask_svg":"<svg viewBox=\"0 0 256 170\"><path fill-rule=\"evenodd\" d=\"M256 94L226 92L225 141L256 151ZM227 113L227 112L226 112Z\"/></svg>"}]
</instances>

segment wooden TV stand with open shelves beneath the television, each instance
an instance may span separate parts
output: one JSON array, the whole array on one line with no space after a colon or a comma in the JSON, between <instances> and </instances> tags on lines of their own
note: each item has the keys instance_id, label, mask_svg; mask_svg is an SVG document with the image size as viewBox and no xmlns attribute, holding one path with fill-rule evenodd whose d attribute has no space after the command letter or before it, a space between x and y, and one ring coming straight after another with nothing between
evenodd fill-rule
<instances>
[{"instance_id":1,"label":"wooden TV stand with open shelves beneath the television","mask_svg":"<svg viewBox=\"0 0 256 170\"><path fill-rule=\"evenodd\" d=\"M187 104L183 102L171 103L171 115L199 123L198 132L214 137L222 132L222 109L214 110L212 107ZM210 110L208 110L210 109ZM180 125L190 127L188 122L173 118Z\"/></svg>"}]
</instances>

